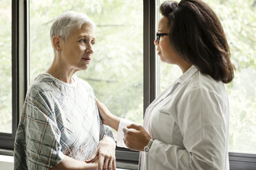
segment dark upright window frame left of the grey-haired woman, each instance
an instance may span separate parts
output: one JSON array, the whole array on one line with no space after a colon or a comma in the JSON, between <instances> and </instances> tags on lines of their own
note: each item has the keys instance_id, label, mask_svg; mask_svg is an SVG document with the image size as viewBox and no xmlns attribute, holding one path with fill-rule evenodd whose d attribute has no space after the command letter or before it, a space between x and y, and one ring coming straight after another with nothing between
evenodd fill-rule
<instances>
[{"instance_id":1,"label":"dark upright window frame left of the grey-haired woman","mask_svg":"<svg viewBox=\"0 0 256 170\"><path fill-rule=\"evenodd\" d=\"M12 134L0 133L0 154L9 156L28 89L28 7L29 0L12 0Z\"/></svg>"}]
</instances>

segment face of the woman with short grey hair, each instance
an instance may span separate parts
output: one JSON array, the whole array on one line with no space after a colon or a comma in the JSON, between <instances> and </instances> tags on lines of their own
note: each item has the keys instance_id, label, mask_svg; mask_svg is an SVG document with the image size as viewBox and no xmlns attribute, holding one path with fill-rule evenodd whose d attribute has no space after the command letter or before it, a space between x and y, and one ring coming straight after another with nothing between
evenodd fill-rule
<instances>
[{"instance_id":1,"label":"face of the woman with short grey hair","mask_svg":"<svg viewBox=\"0 0 256 170\"><path fill-rule=\"evenodd\" d=\"M75 70L87 69L94 53L94 27L83 25L74 28L66 42L61 41L61 57L67 66Z\"/></svg>"}]
</instances>

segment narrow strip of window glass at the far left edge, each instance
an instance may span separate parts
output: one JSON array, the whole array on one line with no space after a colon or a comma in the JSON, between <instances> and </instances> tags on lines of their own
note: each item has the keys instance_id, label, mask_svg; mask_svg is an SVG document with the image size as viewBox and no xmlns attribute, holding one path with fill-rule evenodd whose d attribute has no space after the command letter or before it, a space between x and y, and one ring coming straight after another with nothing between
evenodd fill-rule
<instances>
[{"instance_id":1,"label":"narrow strip of window glass at the far left edge","mask_svg":"<svg viewBox=\"0 0 256 170\"><path fill-rule=\"evenodd\" d=\"M0 1L0 132L12 133L12 1Z\"/></svg>"}]
</instances>

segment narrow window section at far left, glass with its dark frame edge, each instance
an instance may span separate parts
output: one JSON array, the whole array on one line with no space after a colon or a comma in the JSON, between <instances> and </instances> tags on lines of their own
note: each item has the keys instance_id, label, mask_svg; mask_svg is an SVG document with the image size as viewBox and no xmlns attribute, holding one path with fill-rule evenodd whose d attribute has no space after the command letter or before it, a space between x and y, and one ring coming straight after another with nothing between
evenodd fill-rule
<instances>
[{"instance_id":1,"label":"narrow window section at far left, glass with its dark frame edge","mask_svg":"<svg viewBox=\"0 0 256 170\"><path fill-rule=\"evenodd\" d=\"M12 149L17 129L17 3L0 1L0 148Z\"/></svg>"}]
</instances>

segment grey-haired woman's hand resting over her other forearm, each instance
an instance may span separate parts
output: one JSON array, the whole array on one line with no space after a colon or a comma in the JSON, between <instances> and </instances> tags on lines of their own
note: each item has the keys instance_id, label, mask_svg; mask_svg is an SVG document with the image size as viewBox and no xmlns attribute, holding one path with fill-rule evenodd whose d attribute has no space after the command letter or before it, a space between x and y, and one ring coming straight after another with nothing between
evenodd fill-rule
<instances>
[{"instance_id":1,"label":"grey-haired woman's hand resting over her other forearm","mask_svg":"<svg viewBox=\"0 0 256 170\"><path fill-rule=\"evenodd\" d=\"M113 138L104 136L98 144L98 148L94 152L92 158L86 160L86 162L95 160L98 161L98 169L100 170L116 170L116 143Z\"/></svg>"}]
</instances>

